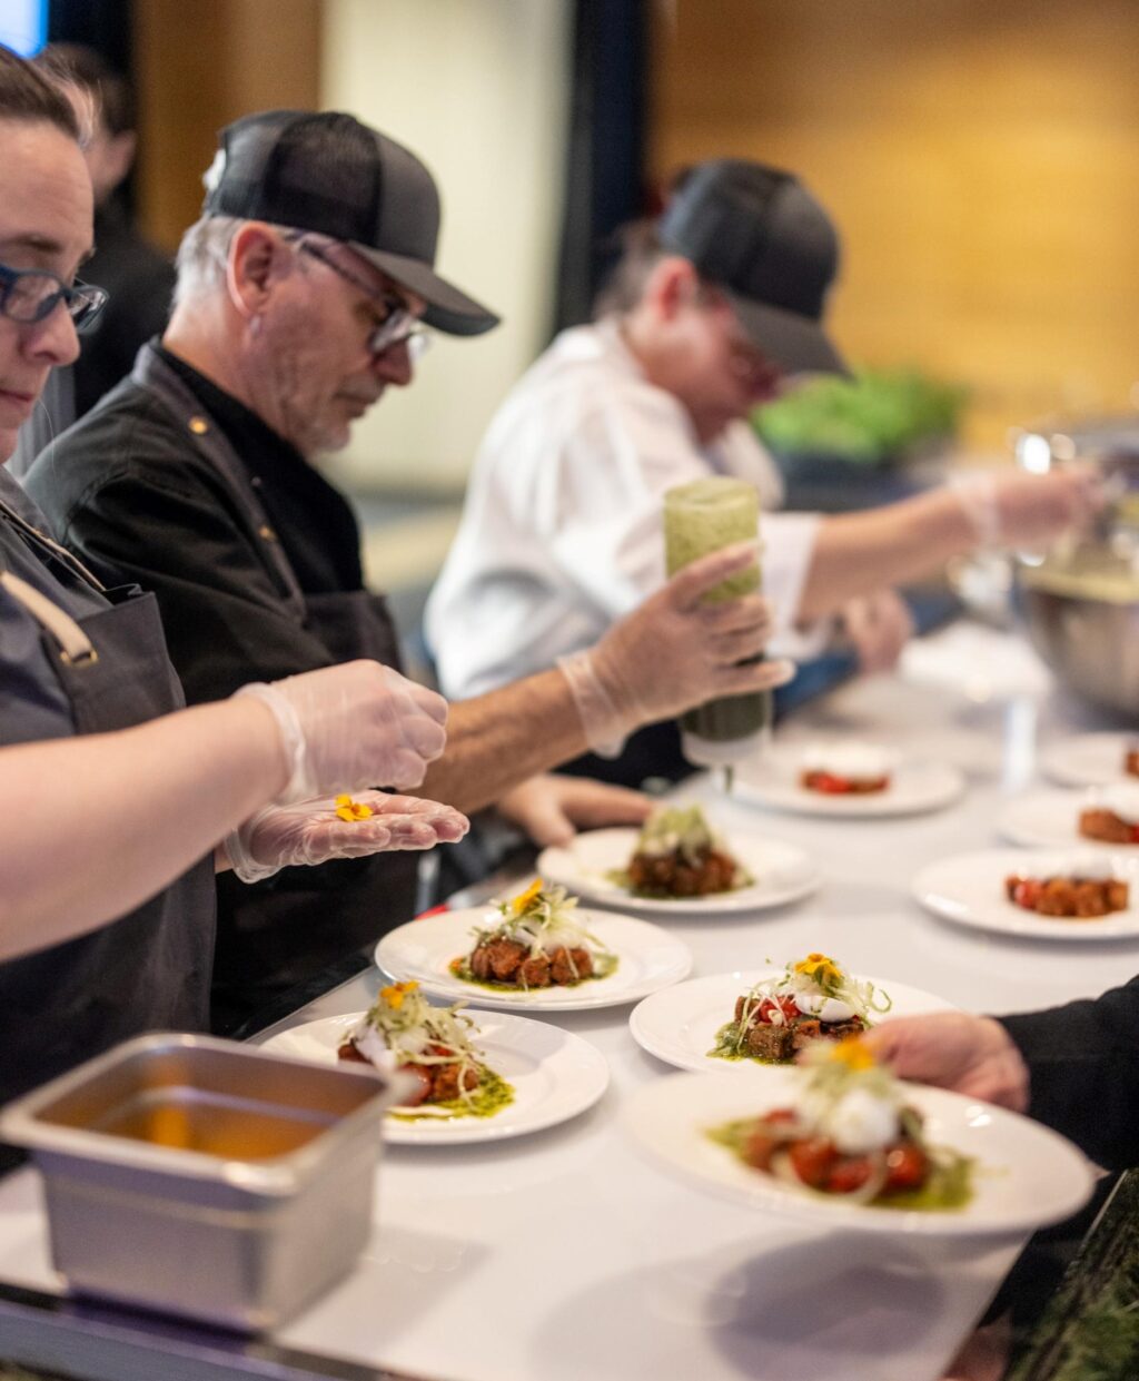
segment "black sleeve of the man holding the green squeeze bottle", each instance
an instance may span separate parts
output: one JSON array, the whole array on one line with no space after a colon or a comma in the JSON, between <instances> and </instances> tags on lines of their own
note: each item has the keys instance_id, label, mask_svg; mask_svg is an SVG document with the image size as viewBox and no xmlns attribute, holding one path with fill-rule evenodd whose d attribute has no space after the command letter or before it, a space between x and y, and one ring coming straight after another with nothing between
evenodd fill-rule
<instances>
[{"instance_id":1,"label":"black sleeve of the man holding the green squeeze bottle","mask_svg":"<svg viewBox=\"0 0 1139 1381\"><path fill-rule=\"evenodd\" d=\"M70 508L62 540L106 583L157 595L191 704L335 660L290 610L255 550L264 539L199 471L120 471Z\"/></svg>"}]
</instances>

